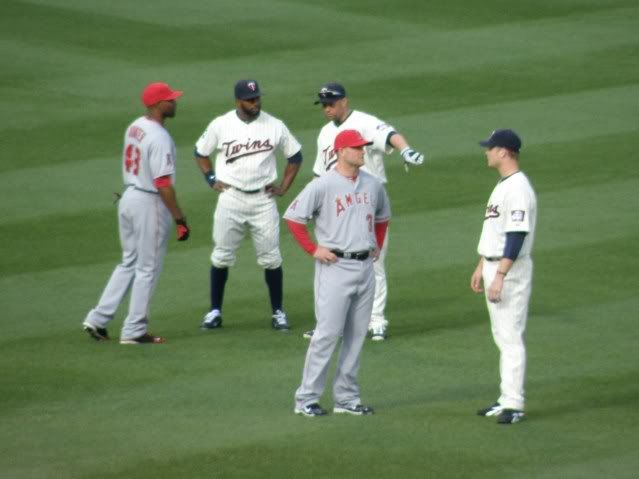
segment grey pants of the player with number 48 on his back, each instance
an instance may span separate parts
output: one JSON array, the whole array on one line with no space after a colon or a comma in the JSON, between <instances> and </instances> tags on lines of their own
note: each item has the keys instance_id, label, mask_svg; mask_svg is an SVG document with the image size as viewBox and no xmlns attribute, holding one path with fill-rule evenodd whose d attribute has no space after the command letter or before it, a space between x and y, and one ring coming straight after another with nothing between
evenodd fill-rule
<instances>
[{"instance_id":1,"label":"grey pants of the player with number 48 on his back","mask_svg":"<svg viewBox=\"0 0 639 479\"><path fill-rule=\"evenodd\" d=\"M106 328L130 289L129 313L120 337L133 339L146 333L149 304L166 254L171 214L159 195L130 187L119 202L118 223L122 261L85 321Z\"/></svg>"}]
</instances>

